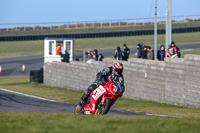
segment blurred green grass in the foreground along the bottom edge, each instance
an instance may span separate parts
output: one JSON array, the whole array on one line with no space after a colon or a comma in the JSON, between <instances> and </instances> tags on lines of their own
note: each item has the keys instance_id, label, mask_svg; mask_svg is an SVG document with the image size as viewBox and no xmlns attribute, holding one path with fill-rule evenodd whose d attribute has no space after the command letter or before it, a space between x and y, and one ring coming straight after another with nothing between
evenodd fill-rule
<instances>
[{"instance_id":1,"label":"blurred green grass in the foreground along the bottom edge","mask_svg":"<svg viewBox=\"0 0 200 133\"><path fill-rule=\"evenodd\" d=\"M199 133L200 119L0 113L2 133Z\"/></svg>"}]
</instances>

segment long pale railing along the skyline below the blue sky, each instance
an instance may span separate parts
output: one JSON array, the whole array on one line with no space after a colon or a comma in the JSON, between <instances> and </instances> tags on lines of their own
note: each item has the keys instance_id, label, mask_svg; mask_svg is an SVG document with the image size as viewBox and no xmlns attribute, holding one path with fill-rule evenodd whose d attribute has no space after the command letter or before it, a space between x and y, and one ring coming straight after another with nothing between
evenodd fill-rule
<instances>
[{"instance_id":1,"label":"long pale railing along the skyline below the blue sky","mask_svg":"<svg viewBox=\"0 0 200 133\"><path fill-rule=\"evenodd\" d=\"M158 25L165 24L165 17L158 17ZM200 15L172 16L172 23L187 23L200 21ZM87 28L114 28L129 27L138 25L153 25L154 18L133 18L116 20L95 20L95 21L77 21L77 22L43 22L43 23L1 23L2 31L27 31L27 30L69 30L69 29L87 29Z\"/></svg>"}]
</instances>

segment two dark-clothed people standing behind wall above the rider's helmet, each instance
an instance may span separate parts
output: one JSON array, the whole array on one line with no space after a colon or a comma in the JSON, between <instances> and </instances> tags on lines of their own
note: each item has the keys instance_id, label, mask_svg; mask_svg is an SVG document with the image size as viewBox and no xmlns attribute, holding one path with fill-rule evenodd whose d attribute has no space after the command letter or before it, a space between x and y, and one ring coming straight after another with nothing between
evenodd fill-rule
<instances>
[{"instance_id":1,"label":"two dark-clothed people standing behind wall above the rider's helmet","mask_svg":"<svg viewBox=\"0 0 200 133\"><path fill-rule=\"evenodd\" d=\"M116 60L124 60L127 61L130 55L130 49L126 46L126 44L123 44L124 51L121 50L120 46L117 47L117 50L115 50L114 58Z\"/></svg>"}]
</instances>

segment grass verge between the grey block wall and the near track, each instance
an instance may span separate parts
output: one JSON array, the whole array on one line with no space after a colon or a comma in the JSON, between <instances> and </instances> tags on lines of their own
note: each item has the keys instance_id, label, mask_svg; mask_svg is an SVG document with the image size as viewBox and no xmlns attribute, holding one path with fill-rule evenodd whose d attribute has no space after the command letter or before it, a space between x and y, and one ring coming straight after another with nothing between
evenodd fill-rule
<instances>
[{"instance_id":1,"label":"grass verge between the grey block wall and the near track","mask_svg":"<svg viewBox=\"0 0 200 133\"><path fill-rule=\"evenodd\" d=\"M83 92L30 84L28 77L0 77L0 87L57 101L78 103ZM120 98L114 108L170 116L200 118L200 109Z\"/></svg>"}]
</instances>

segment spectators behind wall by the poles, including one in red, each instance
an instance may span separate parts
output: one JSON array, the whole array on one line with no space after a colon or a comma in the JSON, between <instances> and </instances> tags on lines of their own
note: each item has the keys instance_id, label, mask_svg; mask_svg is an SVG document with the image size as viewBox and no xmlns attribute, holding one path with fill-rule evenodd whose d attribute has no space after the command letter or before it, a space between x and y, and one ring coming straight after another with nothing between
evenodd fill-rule
<instances>
[{"instance_id":1,"label":"spectators behind wall by the poles, including one in red","mask_svg":"<svg viewBox=\"0 0 200 133\"><path fill-rule=\"evenodd\" d=\"M175 42L172 41L169 44L169 48L165 49L164 45L160 45L159 50L157 51L157 59L160 61L164 61L164 58L166 57L169 58L180 58L181 57L181 52L178 46L175 45ZM137 52L135 53L137 55L137 58L142 58L142 59L149 59L149 60L154 60L154 50L151 49L150 46L143 46L142 42L139 42L137 44Z\"/></svg>"}]
</instances>

